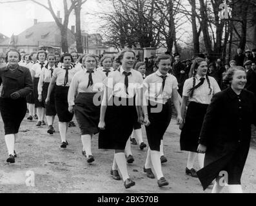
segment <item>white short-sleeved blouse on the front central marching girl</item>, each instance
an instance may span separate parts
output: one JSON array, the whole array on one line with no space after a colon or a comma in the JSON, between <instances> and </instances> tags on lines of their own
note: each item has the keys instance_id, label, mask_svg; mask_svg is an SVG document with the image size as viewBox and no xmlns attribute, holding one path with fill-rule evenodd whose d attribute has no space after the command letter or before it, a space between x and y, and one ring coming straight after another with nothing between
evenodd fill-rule
<instances>
[{"instance_id":1,"label":"white short-sleeved blouse on the front central marching girl","mask_svg":"<svg viewBox=\"0 0 256 206\"><path fill-rule=\"evenodd\" d=\"M139 71L130 70L131 74L128 76L128 95L126 93L124 79L125 75L123 74L123 68L120 67L120 70L115 70L108 75L108 78L104 80L104 85L107 88L113 89L112 95L115 97L122 98L133 98L138 88L141 88L143 84L143 76Z\"/></svg>"}]
</instances>

